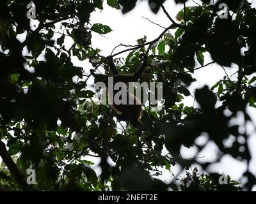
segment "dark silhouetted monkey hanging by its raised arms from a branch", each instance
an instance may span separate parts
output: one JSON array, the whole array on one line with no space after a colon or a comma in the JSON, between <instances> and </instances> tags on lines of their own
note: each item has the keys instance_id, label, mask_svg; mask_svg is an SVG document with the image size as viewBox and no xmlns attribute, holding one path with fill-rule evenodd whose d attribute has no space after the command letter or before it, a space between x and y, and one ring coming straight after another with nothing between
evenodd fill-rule
<instances>
[{"instance_id":1,"label":"dark silhouetted monkey hanging by its raised arms from a branch","mask_svg":"<svg viewBox=\"0 0 256 204\"><path fill-rule=\"evenodd\" d=\"M113 73L113 84L115 85L117 82L137 82L141 77L143 71L147 67L147 55L140 54L141 63L138 65L136 71L132 74L120 74L116 66L113 62L113 57L109 56L108 64L111 72ZM103 82L108 87L108 76L102 74L95 74L93 69L90 69L93 77L95 77L95 82ZM113 90L113 94L115 96L118 90ZM109 90L108 90L109 93ZM141 122L141 115L143 113L142 105L140 99L136 98L131 92L127 91L127 103L117 105L115 101L111 101L111 107L113 110L118 113L118 119L131 122L132 126L138 129L143 129L143 123ZM128 101L133 101L133 104L129 104Z\"/></svg>"}]
</instances>

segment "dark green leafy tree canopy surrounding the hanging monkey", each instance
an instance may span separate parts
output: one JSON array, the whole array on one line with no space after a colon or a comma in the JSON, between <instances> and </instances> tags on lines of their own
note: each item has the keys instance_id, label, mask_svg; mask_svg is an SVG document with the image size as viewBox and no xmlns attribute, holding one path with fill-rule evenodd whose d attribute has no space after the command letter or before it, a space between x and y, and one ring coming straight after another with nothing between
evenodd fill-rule
<instances>
[{"instance_id":1,"label":"dark green leafy tree canopy surrounding the hanging monkey","mask_svg":"<svg viewBox=\"0 0 256 204\"><path fill-rule=\"evenodd\" d=\"M91 13L108 6L127 13L136 2L34 0L38 24L33 26L30 0L0 1L1 191L252 190L256 178L249 168L246 124L253 123L246 107L256 107L255 8L246 0L202 0L194 6L175 0L184 8L173 19L164 0L148 0L152 12L164 11L163 20L170 20L170 26L152 41L145 33L138 45L119 45L124 49L113 52L122 73L133 73L140 54L148 52L140 82L163 82L163 107L153 112L153 105L145 105L141 121L148 129L140 132L129 122L123 126L108 105L97 103L97 93L88 84L92 75L85 74L104 68L104 74L111 75L106 56L100 54L103 48L92 47L92 33L113 31L109 25L91 24ZM19 34L26 38L18 40ZM70 47L67 40L72 41ZM127 57L121 58L124 52ZM205 54L212 61L205 61ZM72 57L90 66L78 67ZM235 64L236 72L195 94L189 91L189 85L200 80L193 77L194 71L210 64L223 69ZM200 106L184 105L191 95ZM239 115L244 123L232 124ZM207 142L196 143L202 134ZM228 138L233 142L227 146ZM218 146L216 160L202 163L198 154L209 142ZM198 153L183 159L182 146L196 147ZM207 173L209 165L225 155L246 162L246 182L227 177L221 184L222 175ZM99 176L88 156L100 158ZM178 164L180 172L186 170L179 182L175 177L169 183L157 178L161 168L172 172ZM28 170L35 170L34 185L27 182Z\"/></svg>"}]
</instances>

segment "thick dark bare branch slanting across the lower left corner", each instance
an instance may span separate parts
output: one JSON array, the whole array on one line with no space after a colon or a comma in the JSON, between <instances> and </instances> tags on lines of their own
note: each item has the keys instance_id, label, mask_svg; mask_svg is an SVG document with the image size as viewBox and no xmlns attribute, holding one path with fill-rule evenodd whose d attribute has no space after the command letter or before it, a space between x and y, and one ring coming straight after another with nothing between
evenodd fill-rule
<instances>
[{"instance_id":1,"label":"thick dark bare branch slanting across the lower left corner","mask_svg":"<svg viewBox=\"0 0 256 204\"><path fill-rule=\"evenodd\" d=\"M18 184L25 191L37 191L33 186L30 186L26 182L26 177L20 172L19 168L17 168L16 164L13 162L12 157L6 150L4 143L0 140L0 156L3 159L4 164L6 164L8 170L15 180L17 180Z\"/></svg>"}]
</instances>

